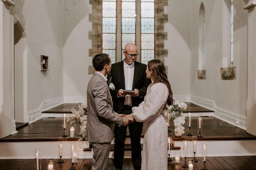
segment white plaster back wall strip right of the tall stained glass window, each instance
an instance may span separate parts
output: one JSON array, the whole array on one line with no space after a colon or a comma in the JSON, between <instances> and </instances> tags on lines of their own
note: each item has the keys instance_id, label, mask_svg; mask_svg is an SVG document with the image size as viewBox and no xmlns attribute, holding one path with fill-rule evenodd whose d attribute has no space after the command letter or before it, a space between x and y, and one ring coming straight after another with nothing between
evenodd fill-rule
<instances>
[{"instance_id":1,"label":"white plaster back wall strip right of the tall stained glass window","mask_svg":"<svg viewBox=\"0 0 256 170\"><path fill-rule=\"evenodd\" d=\"M168 23L165 23L165 32L168 40L165 49L168 57L165 65L168 66L174 100L186 100L190 95L190 5L187 0L169 0L165 7L168 14Z\"/></svg>"}]
</instances>

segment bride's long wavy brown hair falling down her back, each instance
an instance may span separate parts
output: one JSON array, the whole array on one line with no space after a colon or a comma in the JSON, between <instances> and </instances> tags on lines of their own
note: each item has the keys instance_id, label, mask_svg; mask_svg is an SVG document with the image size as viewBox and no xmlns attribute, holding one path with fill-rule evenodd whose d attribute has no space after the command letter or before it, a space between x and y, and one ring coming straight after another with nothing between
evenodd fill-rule
<instances>
[{"instance_id":1,"label":"bride's long wavy brown hair falling down her back","mask_svg":"<svg viewBox=\"0 0 256 170\"><path fill-rule=\"evenodd\" d=\"M174 103L174 100L172 98L172 89L171 85L168 81L167 74L165 71L165 65L160 60L151 60L147 63L148 70L152 70L151 77L159 82L163 83L167 86L169 90L169 95L167 99L167 104L172 105Z\"/></svg>"}]
</instances>

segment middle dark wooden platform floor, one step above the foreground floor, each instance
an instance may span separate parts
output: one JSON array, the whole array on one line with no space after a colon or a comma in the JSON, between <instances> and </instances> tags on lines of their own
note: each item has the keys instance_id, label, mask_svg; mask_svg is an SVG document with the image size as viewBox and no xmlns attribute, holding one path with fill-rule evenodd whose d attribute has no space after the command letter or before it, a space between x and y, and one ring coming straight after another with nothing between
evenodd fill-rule
<instances>
[{"instance_id":1,"label":"middle dark wooden platform floor, one step above the foreground floor","mask_svg":"<svg viewBox=\"0 0 256 170\"><path fill-rule=\"evenodd\" d=\"M186 118L187 119L187 118ZM245 130L238 127L221 126L219 120L215 117L203 117L202 135L203 138L198 140L256 140L256 136L246 133ZM227 124L224 122L223 124ZM171 123L169 135L173 140L191 139L186 136L188 133L187 122L184 124L185 133L182 137L174 136L174 126ZM78 140L80 126L77 125L76 138L65 138L65 140ZM128 128L127 128L128 129ZM16 142L16 141L58 141L58 137L63 134L61 118L42 118L27 126L17 130L18 133L0 139L0 142ZM197 117L192 118L191 133L197 134ZM127 137L129 131L127 131ZM142 137L144 131L142 132Z\"/></svg>"}]
</instances>

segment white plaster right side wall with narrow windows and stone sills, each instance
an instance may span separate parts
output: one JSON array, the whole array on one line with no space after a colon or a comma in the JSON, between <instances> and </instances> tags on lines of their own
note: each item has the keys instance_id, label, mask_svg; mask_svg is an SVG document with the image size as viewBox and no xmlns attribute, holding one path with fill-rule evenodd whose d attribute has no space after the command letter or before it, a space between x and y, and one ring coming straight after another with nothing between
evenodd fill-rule
<instances>
[{"instance_id":1,"label":"white plaster right side wall with narrow windows and stone sills","mask_svg":"<svg viewBox=\"0 0 256 170\"><path fill-rule=\"evenodd\" d=\"M203 0L205 7L205 69L207 79L197 79L198 68L198 14L201 1L191 6L191 96L216 104L229 116L246 116L247 93L247 14L243 1L234 1L234 63L237 80L221 80L220 68L230 66L228 6L226 1ZM228 3L227 3L228 4Z\"/></svg>"}]
</instances>

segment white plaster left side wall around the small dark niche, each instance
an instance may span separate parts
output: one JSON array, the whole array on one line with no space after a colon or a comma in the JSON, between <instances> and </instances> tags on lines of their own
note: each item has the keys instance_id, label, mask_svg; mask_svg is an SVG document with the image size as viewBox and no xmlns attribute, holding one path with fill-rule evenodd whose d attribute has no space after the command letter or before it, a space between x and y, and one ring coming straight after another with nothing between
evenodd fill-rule
<instances>
[{"instance_id":1,"label":"white plaster left side wall around the small dark niche","mask_svg":"<svg viewBox=\"0 0 256 170\"><path fill-rule=\"evenodd\" d=\"M63 6L52 0L17 4L15 13L25 25L27 35L27 112L33 113L42 102L63 96ZM40 70L40 55L49 56L49 71Z\"/></svg>"}]
</instances>

